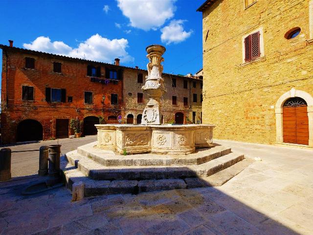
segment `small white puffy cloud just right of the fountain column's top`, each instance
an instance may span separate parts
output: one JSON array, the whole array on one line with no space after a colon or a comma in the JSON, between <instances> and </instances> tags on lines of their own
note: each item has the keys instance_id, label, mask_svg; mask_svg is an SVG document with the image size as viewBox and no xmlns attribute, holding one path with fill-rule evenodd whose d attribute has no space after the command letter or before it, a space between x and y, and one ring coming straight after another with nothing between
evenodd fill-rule
<instances>
[{"instance_id":1,"label":"small white puffy cloud just right of the fountain column's top","mask_svg":"<svg viewBox=\"0 0 313 235\"><path fill-rule=\"evenodd\" d=\"M184 31L183 22L183 20L173 20L168 26L161 28L161 41L168 45L177 44L189 38L193 31Z\"/></svg>"}]
</instances>

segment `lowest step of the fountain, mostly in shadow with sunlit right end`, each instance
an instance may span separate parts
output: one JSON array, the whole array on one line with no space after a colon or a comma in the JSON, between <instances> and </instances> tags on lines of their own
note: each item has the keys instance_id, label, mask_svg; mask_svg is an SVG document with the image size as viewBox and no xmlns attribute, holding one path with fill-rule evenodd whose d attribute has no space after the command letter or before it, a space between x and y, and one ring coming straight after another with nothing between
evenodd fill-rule
<instances>
[{"instance_id":1,"label":"lowest step of the fountain, mostly in shadow with sunlit right end","mask_svg":"<svg viewBox=\"0 0 313 235\"><path fill-rule=\"evenodd\" d=\"M151 179L151 180L93 180L84 175L78 169L64 170L67 186L72 189L75 182L85 183L85 196L96 196L102 194L118 194L152 192L160 190L182 189L182 188L201 188L211 186L221 186L253 161L244 159L232 166L219 171L208 177L195 177L185 179Z\"/></svg>"}]
</instances>

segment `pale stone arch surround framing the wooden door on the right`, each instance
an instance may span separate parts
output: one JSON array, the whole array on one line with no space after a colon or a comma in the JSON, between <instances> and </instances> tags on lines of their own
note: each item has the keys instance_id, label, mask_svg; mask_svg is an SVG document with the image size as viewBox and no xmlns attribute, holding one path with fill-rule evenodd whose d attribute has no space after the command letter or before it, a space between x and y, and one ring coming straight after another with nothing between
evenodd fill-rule
<instances>
[{"instance_id":1,"label":"pale stone arch surround framing the wooden door on the right","mask_svg":"<svg viewBox=\"0 0 313 235\"><path fill-rule=\"evenodd\" d=\"M303 98L308 104L308 118L309 118L309 146L313 147L313 97L311 94L296 90L292 88L279 97L275 104L275 118L276 118L276 142L282 143L283 139L283 105L285 101L292 97Z\"/></svg>"}]
</instances>

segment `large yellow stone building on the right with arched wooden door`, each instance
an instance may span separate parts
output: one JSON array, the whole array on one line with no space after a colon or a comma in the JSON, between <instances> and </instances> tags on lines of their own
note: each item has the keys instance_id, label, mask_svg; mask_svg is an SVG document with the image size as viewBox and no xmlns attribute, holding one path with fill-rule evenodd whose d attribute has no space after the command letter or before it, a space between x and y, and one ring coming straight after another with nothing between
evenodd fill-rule
<instances>
[{"instance_id":1,"label":"large yellow stone building on the right with arched wooden door","mask_svg":"<svg viewBox=\"0 0 313 235\"><path fill-rule=\"evenodd\" d=\"M206 0L198 11L215 138L313 147L313 0Z\"/></svg>"}]
</instances>

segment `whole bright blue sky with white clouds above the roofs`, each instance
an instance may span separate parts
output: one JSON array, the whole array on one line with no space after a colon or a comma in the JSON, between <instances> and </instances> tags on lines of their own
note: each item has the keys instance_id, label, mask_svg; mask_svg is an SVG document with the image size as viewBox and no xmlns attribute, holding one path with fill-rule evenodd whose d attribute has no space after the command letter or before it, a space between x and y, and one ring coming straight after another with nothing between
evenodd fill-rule
<instances>
[{"instance_id":1,"label":"whole bright blue sky with white clouds above the roofs","mask_svg":"<svg viewBox=\"0 0 313 235\"><path fill-rule=\"evenodd\" d=\"M0 44L146 69L145 48L166 47L164 71L202 68L204 0L1 0ZM154 10L153 10L154 9Z\"/></svg>"}]
</instances>

